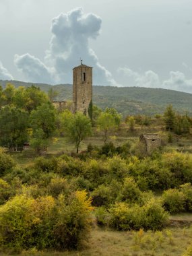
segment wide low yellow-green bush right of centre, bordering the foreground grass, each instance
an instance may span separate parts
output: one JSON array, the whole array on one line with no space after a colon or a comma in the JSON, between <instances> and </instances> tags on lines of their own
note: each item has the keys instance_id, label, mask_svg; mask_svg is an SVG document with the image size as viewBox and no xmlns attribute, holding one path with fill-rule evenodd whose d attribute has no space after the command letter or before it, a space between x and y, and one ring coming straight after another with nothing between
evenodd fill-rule
<instances>
[{"instance_id":1,"label":"wide low yellow-green bush right of centre, bordering the foreground grass","mask_svg":"<svg viewBox=\"0 0 192 256\"><path fill-rule=\"evenodd\" d=\"M109 212L109 226L116 230L160 230L168 220L161 201L154 198L143 206L117 203Z\"/></svg>"}]
</instances>

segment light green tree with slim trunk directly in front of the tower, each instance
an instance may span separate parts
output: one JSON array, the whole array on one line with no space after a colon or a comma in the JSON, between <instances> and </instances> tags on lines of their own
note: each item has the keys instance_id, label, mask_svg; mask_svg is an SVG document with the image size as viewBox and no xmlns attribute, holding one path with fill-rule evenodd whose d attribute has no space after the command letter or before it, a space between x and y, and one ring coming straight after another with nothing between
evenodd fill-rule
<instances>
[{"instance_id":1,"label":"light green tree with slim trunk directly in front of the tower","mask_svg":"<svg viewBox=\"0 0 192 256\"><path fill-rule=\"evenodd\" d=\"M69 111L63 114L63 129L69 140L75 143L76 152L83 139L92 134L92 125L88 117L82 113L70 115Z\"/></svg>"}]
</instances>

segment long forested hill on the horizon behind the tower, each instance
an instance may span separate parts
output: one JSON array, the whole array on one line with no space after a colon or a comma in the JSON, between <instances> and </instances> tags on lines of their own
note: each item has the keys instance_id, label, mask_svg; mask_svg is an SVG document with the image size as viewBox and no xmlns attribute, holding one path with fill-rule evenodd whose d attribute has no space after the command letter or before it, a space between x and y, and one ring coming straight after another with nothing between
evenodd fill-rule
<instances>
[{"instance_id":1,"label":"long forested hill on the horizon behind the tower","mask_svg":"<svg viewBox=\"0 0 192 256\"><path fill-rule=\"evenodd\" d=\"M0 85L5 87L7 83L18 86L31 86L32 83L19 81L1 81ZM34 84L34 83L33 83ZM57 100L71 100L72 86L70 84L34 84L41 90L47 92L54 88L59 95ZM125 115L154 115L163 113L168 104L172 104L180 113L186 111L192 115L192 94L177 92L174 90L126 87L117 88L112 86L93 86L93 102L101 108L114 107Z\"/></svg>"}]
</instances>

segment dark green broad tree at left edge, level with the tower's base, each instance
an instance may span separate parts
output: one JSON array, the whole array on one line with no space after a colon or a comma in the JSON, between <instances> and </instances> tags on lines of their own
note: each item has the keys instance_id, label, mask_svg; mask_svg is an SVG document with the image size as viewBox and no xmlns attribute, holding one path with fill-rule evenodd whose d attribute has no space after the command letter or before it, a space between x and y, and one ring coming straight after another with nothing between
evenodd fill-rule
<instances>
[{"instance_id":1,"label":"dark green broad tree at left edge, level with the tower's base","mask_svg":"<svg viewBox=\"0 0 192 256\"><path fill-rule=\"evenodd\" d=\"M18 148L28 139L28 113L14 106L5 106L0 110L1 146Z\"/></svg>"}]
</instances>

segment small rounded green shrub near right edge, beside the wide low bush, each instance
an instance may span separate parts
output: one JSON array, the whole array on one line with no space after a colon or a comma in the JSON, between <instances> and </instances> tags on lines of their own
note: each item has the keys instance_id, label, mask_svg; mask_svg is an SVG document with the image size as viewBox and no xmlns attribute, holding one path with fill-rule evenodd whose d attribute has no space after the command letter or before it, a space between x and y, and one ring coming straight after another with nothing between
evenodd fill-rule
<instances>
[{"instance_id":1,"label":"small rounded green shrub near right edge, beside the wide low bush","mask_svg":"<svg viewBox=\"0 0 192 256\"><path fill-rule=\"evenodd\" d=\"M164 207L168 212L177 213L185 210L185 195L178 189L168 189L162 194Z\"/></svg>"}]
</instances>

